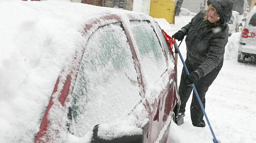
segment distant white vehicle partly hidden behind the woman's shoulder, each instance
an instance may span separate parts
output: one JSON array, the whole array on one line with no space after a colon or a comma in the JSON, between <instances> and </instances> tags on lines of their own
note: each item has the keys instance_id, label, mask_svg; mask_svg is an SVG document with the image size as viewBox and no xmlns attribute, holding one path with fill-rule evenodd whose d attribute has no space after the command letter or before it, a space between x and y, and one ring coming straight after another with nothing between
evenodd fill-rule
<instances>
[{"instance_id":1,"label":"distant white vehicle partly hidden behind the woman's shoulder","mask_svg":"<svg viewBox=\"0 0 256 143\"><path fill-rule=\"evenodd\" d=\"M237 11L232 11L232 16L230 18L230 21L228 21L228 36L233 34L234 32L239 32L239 12Z\"/></svg>"}]
</instances>

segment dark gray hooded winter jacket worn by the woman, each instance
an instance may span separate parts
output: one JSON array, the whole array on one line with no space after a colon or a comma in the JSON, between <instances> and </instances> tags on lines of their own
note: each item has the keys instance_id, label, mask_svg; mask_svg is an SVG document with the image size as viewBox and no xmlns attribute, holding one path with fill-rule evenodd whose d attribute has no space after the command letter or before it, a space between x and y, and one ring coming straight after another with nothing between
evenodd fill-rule
<instances>
[{"instance_id":1,"label":"dark gray hooded winter jacket worn by the woman","mask_svg":"<svg viewBox=\"0 0 256 143\"><path fill-rule=\"evenodd\" d=\"M180 30L187 35L185 40L187 61L195 67L199 78L223 63L225 46L228 42L226 23L230 20L233 8L230 0L208 0L207 4L212 4L219 14L221 20L219 25L205 21L206 13L201 11Z\"/></svg>"}]
</instances>

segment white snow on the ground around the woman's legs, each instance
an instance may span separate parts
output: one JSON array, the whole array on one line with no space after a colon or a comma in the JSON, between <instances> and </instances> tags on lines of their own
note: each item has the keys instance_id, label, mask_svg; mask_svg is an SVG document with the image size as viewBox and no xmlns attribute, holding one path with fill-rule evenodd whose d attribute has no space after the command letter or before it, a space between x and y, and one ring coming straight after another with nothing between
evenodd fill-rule
<instances>
[{"instance_id":1,"label":"white snow on the ground around the woman's legs","mask_svg":"<svg viewBox=\"0 0 256 143\"><path fill-rule=\"evenodd\" d=\"M192 16L182 15L175 17L175 25L171 24L171 29L165 31L171 36L189 23L191 18ZM206 93L206 114L215 136L221 143L256 142L256 62L254 59L247 59L246 63L237 62L240 34L234 33L228 38L223 67ZM184 41L180 51L185 59ZM181 71L182 62L178 58L178 84ZM207 125L205 128L192 125L191 99L192 95L187 102L184 124L177 126L172 122L167 143L213 143ZM204 120L206 121L205 118Z\"/></svg>"}]
</instances>

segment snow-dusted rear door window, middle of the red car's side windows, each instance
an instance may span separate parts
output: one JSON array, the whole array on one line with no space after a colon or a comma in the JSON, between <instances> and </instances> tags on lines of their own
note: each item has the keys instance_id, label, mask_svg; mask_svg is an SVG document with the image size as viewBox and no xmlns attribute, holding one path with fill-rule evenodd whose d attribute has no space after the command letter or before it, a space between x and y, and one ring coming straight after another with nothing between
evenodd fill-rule
<instances>
[{"instance_id":1,"label":"snow-dusted rear door window, middle of the red car's side windows","mask_svg":"<svg viewBox=\"0 0 256 143\"><path fill-rule=\"evenodd\" d=\"M131 21L131 26L144 76L148 83L154 83L167 70L161 45L153 27L147 21Z\"/></svg>"}]
</instances>

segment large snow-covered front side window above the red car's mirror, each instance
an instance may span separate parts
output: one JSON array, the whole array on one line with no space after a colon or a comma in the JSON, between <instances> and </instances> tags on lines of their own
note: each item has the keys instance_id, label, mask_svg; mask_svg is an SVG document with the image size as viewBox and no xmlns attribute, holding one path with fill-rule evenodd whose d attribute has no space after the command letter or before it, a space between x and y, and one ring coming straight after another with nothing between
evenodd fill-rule
<instances>
[{"instance_id":1,"label":"large snow-covered front side window above the red car's mirror","mask_svg":"<svg viewBox=\"0 0 256 143\"><path fill-rule=\"evenodd\" d=\"M85 48L72 93L74 134L83 137L96 124L128 115L141 100L137 77L121 24L96 30Z\"/></svg>"}]
</instances>

